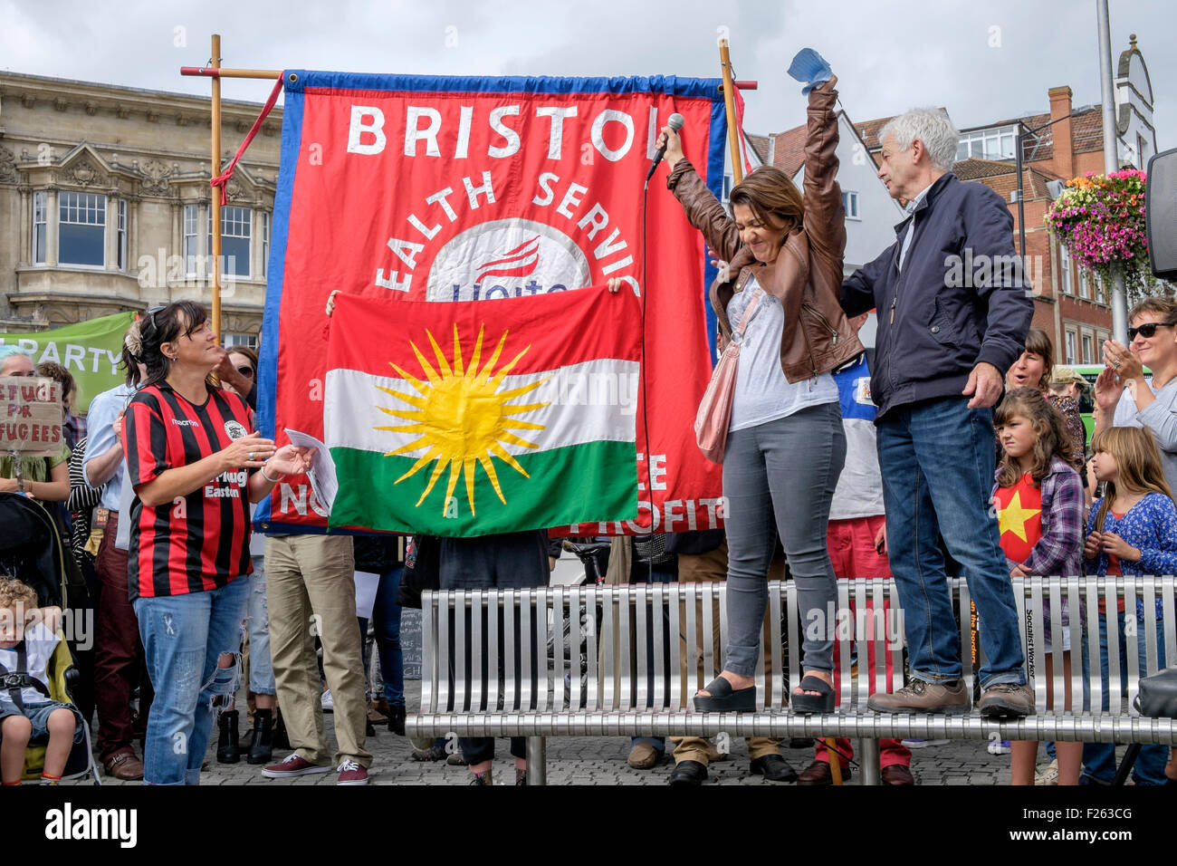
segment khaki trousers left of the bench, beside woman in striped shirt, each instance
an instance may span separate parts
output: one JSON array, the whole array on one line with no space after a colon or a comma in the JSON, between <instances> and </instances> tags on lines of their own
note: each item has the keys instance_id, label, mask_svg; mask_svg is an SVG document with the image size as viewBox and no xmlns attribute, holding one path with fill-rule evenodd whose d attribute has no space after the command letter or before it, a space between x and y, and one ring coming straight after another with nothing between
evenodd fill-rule
<instances>
[{"instance_id":1,"label":"khaki trousers left of the bench, beside woman in striped shirt","mask_svg":"<svg viewBox=\"0 0 1177 866\"><path fill-rule=\"evenodd\" d=\"M322 729L322 688L314 639L322 643L322 672L334 702L334 765L367 767L364 751L367 703L360 629L355 621L355 560L346 535L278 535L266 538L270 654L278 701L291 746L324 766L331 751Z\"/></svg>"}]
</instances>

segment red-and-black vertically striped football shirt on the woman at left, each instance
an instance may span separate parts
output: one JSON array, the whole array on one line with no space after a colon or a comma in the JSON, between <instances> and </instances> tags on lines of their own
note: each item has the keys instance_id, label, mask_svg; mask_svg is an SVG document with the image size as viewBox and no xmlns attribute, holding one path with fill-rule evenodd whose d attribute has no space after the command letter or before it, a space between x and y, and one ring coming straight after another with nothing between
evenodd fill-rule
<instances>
[{"instance_id":1,"label":"red-and-black vertically striped football shirt on the woman at left","mask_svg":"<svg viewBox=\"0 0 1177 866\"><path fill-rule=\"evenodd\" d=\"M189 465L253 431L253 412L230 391L210 389L194 405L166 382L140 390L127 406L127 478L145 484ZM231 469L184 497L131 504L131 599L204 593L252 570L248 470Z\"/></svg>"}]
</instances>

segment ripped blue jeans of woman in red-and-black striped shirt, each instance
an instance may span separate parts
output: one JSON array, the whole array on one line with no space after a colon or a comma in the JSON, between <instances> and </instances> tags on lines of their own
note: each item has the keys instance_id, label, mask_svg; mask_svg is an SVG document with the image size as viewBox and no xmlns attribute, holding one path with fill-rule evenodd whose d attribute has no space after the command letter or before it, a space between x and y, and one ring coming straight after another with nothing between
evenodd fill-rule
<instances>
[{"instance_id":1,"label":"ripped blue jeans of woman in red-and-black striped shirt","mask_svg":"<svg viewBox=\"0 0 1177 866\"><path fill-rule=\"evenodd\" d=\"M224 653L240 652L248 591L242 576L207 593L135 600L155 688L144 745L145 784L199 784L213 698L224 703L237 693L237 662L228 668L217 662Z\"/></svg>"}]
</instances>

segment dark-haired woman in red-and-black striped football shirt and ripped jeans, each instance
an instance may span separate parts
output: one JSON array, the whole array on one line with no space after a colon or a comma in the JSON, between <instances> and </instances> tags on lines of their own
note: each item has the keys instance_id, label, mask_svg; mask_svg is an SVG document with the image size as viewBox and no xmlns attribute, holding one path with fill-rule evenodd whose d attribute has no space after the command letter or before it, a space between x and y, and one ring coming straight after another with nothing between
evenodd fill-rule
<instances>
[{"instance_id":1,"label":"dark-haired woman in red-and-black striped football shirt and ripped jeans","mask_svg":"<svg viewBox=\"0 0 1177 866\"><path fill-rule=\"evenodd\" d=\"M213 703L237 692L250 503L306 471L308 455L275 448L237 394L212 385L225 351L202 306L148 310L140 336L147 379L127 406L124 448L131 599L155 687L144 780L195 785Z\"/></svg>"}]
</instances>

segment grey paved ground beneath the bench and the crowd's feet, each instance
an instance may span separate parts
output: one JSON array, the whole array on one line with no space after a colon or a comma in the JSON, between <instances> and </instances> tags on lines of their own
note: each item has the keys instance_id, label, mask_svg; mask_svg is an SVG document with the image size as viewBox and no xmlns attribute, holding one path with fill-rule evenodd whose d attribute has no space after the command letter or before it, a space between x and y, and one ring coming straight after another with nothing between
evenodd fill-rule
<instances>
[{"instance_id":1,"label":"grey paved ground beneath the bench and the crowd's feet","mask_svg":"<svg viewBox=\"0 0 1177 866\"><path fill-rule=\"evenodd\" d=\"M420 699L420 683L405 683L406 699L412 708ZM245 707L244 696L238 707ZM242 712L242 733L244 733ZM325 727L331 743L333 739L333 716L326 713ZM494 776L499 784L514 781L513 760L507 751L506 739L497 741L498 760L494 763ZM470 771L466 767L450 766L444 761L420 762L412 758L412 743L404 736L391 733L386 726L377 727L377 735L368 738L366 748L373 755L370 779L372 785L467 785ZM665 785L673 762L670 756L653 769L632 769L625 762L630 751L630 741L624 738L571 736L547 740L547 782L548 785ZM794 769L800 772L813 760L812 749L783 748L785 756ZM280 760L285 752L275 752L274 760ZM758 775L749 773L747 752L742 740L732 742L730 760L711 765L711 784L718 785L767 785ZM1039 752L1039 762L1045 762L1045 755ZM986 743L979 740L953 741L944 746L932 746L912 752L911 772L918 785L1009 785L1009 755L991 755ZM101 775L101 768L99 768ZM201 785L334 785L337 774L324 773L300 776L297 779L265 779L261 767L245 762L242 754L239 763L217 762L215 731L208 748L205 769L200 776ZM853 769L850 785L858 784L858 771ZM92 779L91 779L92 781ZM102 779L109 785L135 785L115 779ZM66 784L88 784L86 779Z\"/></svg>"}]
</instances>

